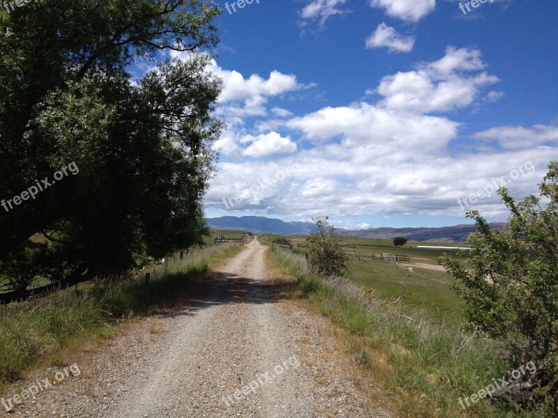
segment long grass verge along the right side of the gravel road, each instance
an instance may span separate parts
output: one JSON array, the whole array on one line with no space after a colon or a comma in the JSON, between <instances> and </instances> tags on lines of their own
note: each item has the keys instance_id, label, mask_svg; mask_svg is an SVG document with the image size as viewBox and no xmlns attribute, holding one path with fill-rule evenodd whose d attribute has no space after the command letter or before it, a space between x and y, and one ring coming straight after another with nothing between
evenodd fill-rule
<instances>
[{"instance_id":1,"label":"long grass verge along the right side of the gravel road","mask_svg":"<svg viewBox=\"0 0 558 418\"><path fill-rule=\"evenodd\" d=\"M435 323L424 309L382 304L360 286L312 274L303 257L271 248L269 265L296 280L285 293L305 297L348 332L345 347L405 417L539 417L488 400L464 409L460 398L506 376L502 346Z\"/></svg>"}]
</instances>

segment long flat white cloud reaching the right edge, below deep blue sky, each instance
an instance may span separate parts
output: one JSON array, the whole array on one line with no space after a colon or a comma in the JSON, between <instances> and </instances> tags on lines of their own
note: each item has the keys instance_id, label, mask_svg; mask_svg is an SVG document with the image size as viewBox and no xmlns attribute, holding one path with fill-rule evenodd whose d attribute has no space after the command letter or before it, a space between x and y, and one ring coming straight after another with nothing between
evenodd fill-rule
<instances>
[{"instance_id":1,"label":"long flat white cloud reaching the right edge, below deep blue sky","mask_svg":"<svg viewBox=\"0 0 558 418\"><path fill-rule=\"evenodd\" d=\"M495 140L505 149L519 150L537 146L558 146L558 125L500 126L477 132L477 139Z\"/></svg>"}]
</instances>

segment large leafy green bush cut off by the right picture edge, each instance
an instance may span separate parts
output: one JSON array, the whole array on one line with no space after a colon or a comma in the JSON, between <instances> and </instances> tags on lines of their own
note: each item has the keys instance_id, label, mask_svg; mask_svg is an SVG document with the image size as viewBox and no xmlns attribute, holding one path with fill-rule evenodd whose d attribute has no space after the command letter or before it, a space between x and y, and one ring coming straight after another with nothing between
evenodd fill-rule
<instances>
[{"instance_id":1,"label":"large leafy green bush cut off by the right picture edge","mask_svg":"<svg viewBox=\"0 0 558 418\"><path fill-rule=\"evenodd\" d=\"M469 265L449 256L444 263L472 324L508 341L514 368L531 361L537 366L520 378L522 387L508 387L502 397L538 403L558 416L558 162L548 169L539 186L542 199L527 196L516 203L506 188L499 189L511 211L504 231L490 229L470 210L467 217L478 232L468 240Z\"/></svg>"}]
</instances>

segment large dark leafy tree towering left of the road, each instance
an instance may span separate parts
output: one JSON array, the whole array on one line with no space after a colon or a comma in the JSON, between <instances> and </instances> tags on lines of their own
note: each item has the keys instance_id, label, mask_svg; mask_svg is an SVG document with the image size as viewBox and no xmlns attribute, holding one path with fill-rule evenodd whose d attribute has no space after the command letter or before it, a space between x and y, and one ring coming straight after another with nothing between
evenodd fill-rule
<instances>
[{"instance_id":1,"label":"large dark leafy tree towering left of the road","mask_svg":"<svg viewBox=\"0 0 558 418\"><path fill-rule=\"evenodd\" d=\"M0 208L4 268L33 260L44 277L76 279L199 242L221 130L211 116L220 80L203 52L218 42L218 13L204 0L41 0L0 11L0 199L79 169ZM160 57L133 80L132 65ZM17 256L37 233L50 242L40 261Z\"/></svg>"}]
</instances>

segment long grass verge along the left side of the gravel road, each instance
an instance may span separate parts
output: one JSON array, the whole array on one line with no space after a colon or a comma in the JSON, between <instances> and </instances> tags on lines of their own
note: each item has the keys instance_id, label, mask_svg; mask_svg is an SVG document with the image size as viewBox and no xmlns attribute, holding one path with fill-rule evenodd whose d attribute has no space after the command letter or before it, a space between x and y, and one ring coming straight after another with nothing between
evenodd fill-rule
<instances>
[{"instance_id":1,"label":"long grass verge along the left side of the gravel road","mask_svg":"<svg viewBox=\"0 0 558 418\"><path fill-rule=\"evenodd\" d=\"M38 300L0 307L0 385L42 362L54 362L57 353L87 336L101 339L123 318L173 307L206 285L207 274L239 245L217 245L193 251L154 274L120 283L80 284Z\"/></svg>"}]
</instances>

